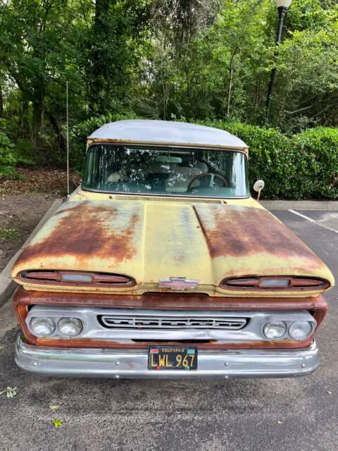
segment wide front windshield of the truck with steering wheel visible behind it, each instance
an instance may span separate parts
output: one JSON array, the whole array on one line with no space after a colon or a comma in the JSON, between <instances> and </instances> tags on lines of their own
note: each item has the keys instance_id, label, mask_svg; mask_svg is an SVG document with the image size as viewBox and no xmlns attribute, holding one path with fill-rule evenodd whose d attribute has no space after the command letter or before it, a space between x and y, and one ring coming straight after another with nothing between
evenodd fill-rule
<instances>
[{"instance_id":1,"label":"wide front windshield of the truck with steering wheel visible behind it","mask_svg":"<svg viewBox=\"0 0 338 451\"><path fill-rule=\"evenodd\" d=\"M82 186L102 192L199 197L249 195L242 152L178 147L89 147Z\"/></svg>"}]
</instances>

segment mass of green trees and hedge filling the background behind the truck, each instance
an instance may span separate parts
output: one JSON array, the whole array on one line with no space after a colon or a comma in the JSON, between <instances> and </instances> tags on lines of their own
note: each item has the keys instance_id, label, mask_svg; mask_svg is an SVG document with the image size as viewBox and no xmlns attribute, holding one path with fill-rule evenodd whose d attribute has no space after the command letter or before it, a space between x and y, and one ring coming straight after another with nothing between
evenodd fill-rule
<instances>
[{"instance_id":1,"label":"mass of green trees and hedge filling the background behind the truck","mask_svg":"<svg viewBox=\"0 0 338 451\"><path fill-rule=\"evenodd\" d=\"M337 197L335 132L318 128L337 126L336 0L293 0L277 59L271 0L8 0L0 23L0 175L64 166L68 81L77 170L109 121L205 121L248 142L265 197Z\"/></svg>"}]
</instances>

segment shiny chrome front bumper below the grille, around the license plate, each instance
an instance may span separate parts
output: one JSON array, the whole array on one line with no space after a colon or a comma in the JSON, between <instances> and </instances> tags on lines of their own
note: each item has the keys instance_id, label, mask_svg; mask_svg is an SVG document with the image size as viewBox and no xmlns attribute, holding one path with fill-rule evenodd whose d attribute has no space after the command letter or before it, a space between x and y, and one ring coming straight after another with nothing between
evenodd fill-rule
<instances>
[{"instance_id":1,"label":"shiny chrome front bumper below the grille, around the license plate","mask_svg":"<svg viewBox=\"0 0 338 451\"><path fill-rule=\"evenodd\" d=\"M42 376L99 378L288 378L318 367L318 347L301 350L199 350L196 371L149 371L146 350L64 349L27 345L18 335L15 362Z\"/></svg>"}]
</instances>

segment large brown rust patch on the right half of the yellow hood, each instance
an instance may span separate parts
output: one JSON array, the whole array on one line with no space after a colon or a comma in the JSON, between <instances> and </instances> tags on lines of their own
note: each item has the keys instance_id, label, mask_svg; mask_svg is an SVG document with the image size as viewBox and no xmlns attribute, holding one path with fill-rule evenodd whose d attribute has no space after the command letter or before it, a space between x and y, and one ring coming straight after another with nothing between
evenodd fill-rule
<instances>
[{"instance_id":1,"label":"large brown rust patch on the right half of the yellow hood","mask_svg":"<svg viewBox=\"0 0 338 451\"><path fill-rule=\"evenodd\" d=\"M273 254L284 259L298 257L311 266L323 268L311 249L266 210L208 206L206 211L194 206L194 211L212 258Z\"/></svg>"}]
</instances>

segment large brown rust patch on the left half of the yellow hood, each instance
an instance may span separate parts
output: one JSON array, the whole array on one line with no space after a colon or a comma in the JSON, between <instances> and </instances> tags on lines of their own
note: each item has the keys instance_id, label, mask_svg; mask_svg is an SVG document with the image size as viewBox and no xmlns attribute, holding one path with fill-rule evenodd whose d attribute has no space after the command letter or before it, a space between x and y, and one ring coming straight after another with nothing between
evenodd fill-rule
<instances>
[{"instance_id":1,"label":"large brown rust patch on the left half of the yellow hood","mask_svg":"<svg viewBox=\"0 0 338 451\"><path fill-rule=\"evenodd\" d=\"M51 233L39 242L28 245L17 263L30 261L35 257L77 257L78 259L115 259L121 262L132 259L137 249L132 245L135 226L139 215L130 216L129 223L122 229L109 225L117 215L114 206L93 205L89 202L65 208L54 216L61 216Z\"/></svg>"}]
</instances>

